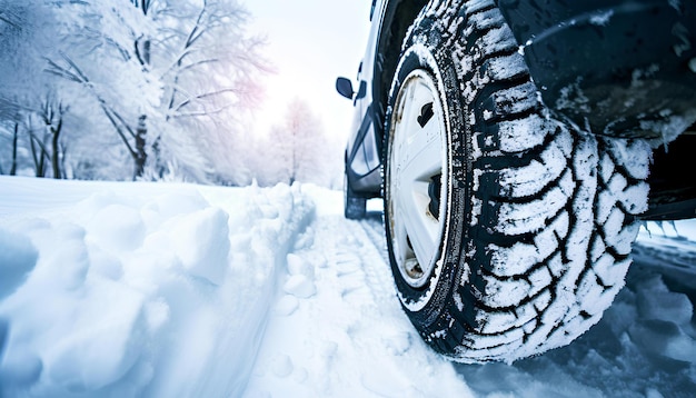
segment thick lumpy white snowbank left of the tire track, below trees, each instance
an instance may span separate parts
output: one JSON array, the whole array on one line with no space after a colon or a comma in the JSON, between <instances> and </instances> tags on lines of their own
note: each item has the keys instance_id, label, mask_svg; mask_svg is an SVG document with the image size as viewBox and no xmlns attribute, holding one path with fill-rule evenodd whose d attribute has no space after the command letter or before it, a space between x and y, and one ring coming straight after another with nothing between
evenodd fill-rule
<instances>
[{"instance_id":1,"label":"thick lumpy white snowbank left of the tire track, below trees","mask_svg":"<svg viewBox=\"0 0 696 398\"><path fill-rule=\"evenodd\" d=\"M287 186L0 178L0 396L241 394L312 213Z\"/></svg>"}]
</instances>

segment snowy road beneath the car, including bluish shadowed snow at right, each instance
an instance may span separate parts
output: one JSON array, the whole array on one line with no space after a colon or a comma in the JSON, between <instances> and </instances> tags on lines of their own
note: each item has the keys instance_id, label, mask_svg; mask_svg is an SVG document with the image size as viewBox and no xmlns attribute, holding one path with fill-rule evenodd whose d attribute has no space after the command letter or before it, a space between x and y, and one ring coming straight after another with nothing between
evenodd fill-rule
<instances>
[{"instance_id":1,"label":"snowy road beneath the car, including bluish shadowed snow at right","mask_svg":"<svg viewBox=\"0 0 696 398\"><path fill-rule=\"evenodd\" d=\"M291 314L276 315L271 330L295 330L294 344L270 338L282 342L265 347L250 397L694 396L695 242L642 233L627 287L571 346L511 366L460 365L432 355L398 307L381 212L358 223L331 210L310 226L314 245L295 252L319 265L318 292L298 306L307 315L295 318L295 305Z\"/></svg>"}]
</instances>

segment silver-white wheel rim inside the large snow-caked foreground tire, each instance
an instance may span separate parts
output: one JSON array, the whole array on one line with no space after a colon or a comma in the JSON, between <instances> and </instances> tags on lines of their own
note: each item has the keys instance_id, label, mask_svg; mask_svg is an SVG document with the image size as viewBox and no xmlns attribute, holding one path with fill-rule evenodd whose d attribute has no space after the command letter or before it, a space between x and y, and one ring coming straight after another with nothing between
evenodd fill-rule
<instances>
[{"instance_id":1,"label":"silver-white wheel rim inside the large snow-caked foreground tire","mask_svg":"<svg viewBox=\"0 0 696 398\"><path fill-rule=\"evenodd\" d=\"M440 253L447 198L446 127L437 87L424 70L401 86L389 132L387 206L394 260L425 286Z\"/></svg>"}]
</instances>

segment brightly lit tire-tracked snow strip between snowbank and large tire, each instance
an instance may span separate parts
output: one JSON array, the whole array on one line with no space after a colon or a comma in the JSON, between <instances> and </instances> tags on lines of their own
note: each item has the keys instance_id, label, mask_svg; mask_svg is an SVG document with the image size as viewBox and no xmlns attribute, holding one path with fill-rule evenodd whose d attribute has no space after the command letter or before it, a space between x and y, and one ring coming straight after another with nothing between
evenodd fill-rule
<instances>
[{"instance_id":1,"label":"brightly lit tire-tracked snow strip between snowbank and large tire","mask_svg":"<svg viewBox=\"0 0 696 398\"><path fill-rule=\"evenodd\" d=\"M330 210L318 211L288 255L245 397L468 396L399 306L381 215L354 221ZM297 278L314 293L295 295L288 282Z\"/></svg>"}]
</instances>

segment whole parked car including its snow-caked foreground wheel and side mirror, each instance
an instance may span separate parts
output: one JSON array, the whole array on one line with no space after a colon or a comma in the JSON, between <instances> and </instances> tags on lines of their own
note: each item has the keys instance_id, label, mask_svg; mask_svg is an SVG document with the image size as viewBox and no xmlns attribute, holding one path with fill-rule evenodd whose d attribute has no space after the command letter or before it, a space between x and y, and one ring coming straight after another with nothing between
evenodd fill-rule
<instances>
[{"instance_id":1,"label":"whole parked car including its snow-caked foreground wheel and side mirror","mask_svg":"<svg viewBox=\"0 0 696 398\"><path fill-rule=\"evenodd\" d=\"M568 344L623 286L640 220L696 217L686 171L696 149L696 3L374 0L370 19L357 83L337 80L355 107L346 216L385 198L399 298L436 350L511 361ZM402 121L409 112L420 127ZM430 165L427 151L441 159ZM429 171L402 181L418 158L412 167ZM418 200L401 191L419 183L422 208L402 211ZM535 207L557 209L535 219ZM515 250L531 241L537 253L553 249L509 270L500 259L516 263L510 253L526 256ZM573 259L578 245L586 249ZM576 293L564 307L580 308L576 320L540 309L554 307L563 283ZM528 296L506 301L520 289ZM536 336L544 324L554 325Z\"/></svg>"}]
</instances>

